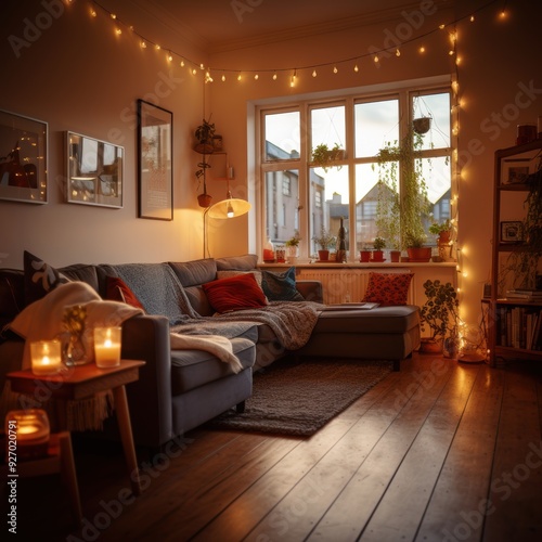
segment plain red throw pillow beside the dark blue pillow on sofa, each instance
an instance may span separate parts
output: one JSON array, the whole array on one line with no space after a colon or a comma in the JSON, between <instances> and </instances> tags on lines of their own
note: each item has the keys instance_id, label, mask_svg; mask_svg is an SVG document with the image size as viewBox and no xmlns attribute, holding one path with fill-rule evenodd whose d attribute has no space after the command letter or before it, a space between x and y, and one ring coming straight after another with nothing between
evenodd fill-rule
<instances>
[{"instance_id":1,"label":"plain red throw pillow beside the dark blue pillow on sofa","mask_svg":"<svg viewBox=\"0 0 542 542\"><path fill-rule=\"evenodd\" d=\"M219 279L202 285L217 312L266 307L268 301L253 273Z\"/></svg>"}]
</instances>

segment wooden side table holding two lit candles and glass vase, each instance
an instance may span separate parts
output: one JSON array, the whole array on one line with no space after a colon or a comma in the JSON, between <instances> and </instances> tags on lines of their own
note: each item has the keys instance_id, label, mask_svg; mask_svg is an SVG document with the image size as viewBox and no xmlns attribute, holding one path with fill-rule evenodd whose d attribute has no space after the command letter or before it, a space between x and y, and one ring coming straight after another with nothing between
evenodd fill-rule
<instances>
[{"instance_id":1,"label":"wooden side table holding two lit candles and glass vase","mask_svg":"<svg viewBox=\"0 0 542 542\"><path fill-rule=\"evenodd\" d=\"M34 396L38 385L40 385L40 387L46 386L50 390L52 398L73 401L111 389L115 400L118 428L132 492L134 495L140 495L141 482L125 385L139 378L139 369L144 364L144 361L121 360L117 367L100 369L94 363L89 363L67 367L65 373L56 375L38 376L30 370L26 370L8 373L7 378L11 380L11 389L18 393Z\"/></svg>"}]
</instances>

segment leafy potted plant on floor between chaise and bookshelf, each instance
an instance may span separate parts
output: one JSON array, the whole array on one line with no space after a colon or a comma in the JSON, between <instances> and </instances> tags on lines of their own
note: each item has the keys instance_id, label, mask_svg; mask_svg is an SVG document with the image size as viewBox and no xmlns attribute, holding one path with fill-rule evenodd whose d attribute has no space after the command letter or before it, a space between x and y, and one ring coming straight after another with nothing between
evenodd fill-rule
<instances>
[{"instance_id":1,"label":"leafy potted plant on floor between chaise and bookshelf","mask_svg":"<svg viewBox=\"0 0 542 542\"><path fill-rule=\"evenodd\" d=\"M441 352L456 357L459 350L459 299L451 283L439 280L424 282L426 301L420 310L422 331L427 326L430 336L422 339L421 353Z\"/></svg>"}]
</instances>

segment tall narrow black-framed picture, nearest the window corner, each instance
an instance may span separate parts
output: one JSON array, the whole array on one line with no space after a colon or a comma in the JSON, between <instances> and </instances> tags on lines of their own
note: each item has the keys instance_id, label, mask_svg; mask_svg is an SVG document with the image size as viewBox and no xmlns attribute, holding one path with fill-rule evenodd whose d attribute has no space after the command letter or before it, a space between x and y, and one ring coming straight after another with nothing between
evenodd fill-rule
<instances>
[{"instance_id":1,"label":"tall narrow black-framed picture, nearest the window corner","mask_svg":"<svg viewBox=\"0 0 542 542\"><path fill-rule=\"evenodd\" d=\"M173 220L173 114L138 100L138 217Z\"/></svg>"}]
</instances>

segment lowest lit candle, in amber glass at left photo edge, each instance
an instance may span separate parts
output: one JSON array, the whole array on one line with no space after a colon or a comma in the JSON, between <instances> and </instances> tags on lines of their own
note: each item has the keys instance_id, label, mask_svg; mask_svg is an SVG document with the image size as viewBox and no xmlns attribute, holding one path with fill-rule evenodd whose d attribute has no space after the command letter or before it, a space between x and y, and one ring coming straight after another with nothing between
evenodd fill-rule
<instances>
[{"instance_id":1,"label":"lowest lit candle, in amber glass at left photo edge","mask_svg":"<svg viewBox=\"0 0 542 542\"><path fill-rule=\"evenodd\" d=\"M49 418L41 409L15 410L5 416L8 451L16 451L21 460L47 455Z\"/></svg>"}]
</instances>

